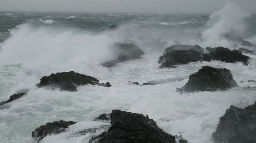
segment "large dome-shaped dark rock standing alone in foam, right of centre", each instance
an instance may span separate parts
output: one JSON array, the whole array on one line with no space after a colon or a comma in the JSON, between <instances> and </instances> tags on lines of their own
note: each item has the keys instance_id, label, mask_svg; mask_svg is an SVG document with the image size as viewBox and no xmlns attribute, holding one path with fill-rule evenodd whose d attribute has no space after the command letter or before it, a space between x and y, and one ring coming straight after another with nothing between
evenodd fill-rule
<instances>
[{"instance_id":1,"label":"large dome-shaped dark rock standing alone in foam, right of centre","mask_svg":"<svg viewBox=\"0 0 256 143\"><path fill-rule=\"evenodd\" d=\"M204 66L198 72L191 74L189 80L177 92L198 92L228 90L237 86L230 70Z\"/></svg>"}]
</instances>

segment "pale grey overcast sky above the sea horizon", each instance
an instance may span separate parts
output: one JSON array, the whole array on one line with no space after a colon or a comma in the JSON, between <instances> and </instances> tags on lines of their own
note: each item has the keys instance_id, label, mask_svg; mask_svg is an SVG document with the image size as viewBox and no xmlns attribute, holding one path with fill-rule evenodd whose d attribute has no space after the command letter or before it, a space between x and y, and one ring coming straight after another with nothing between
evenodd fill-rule
<instances>
[{"instance_id":1,"label":"pale grey overcast sky above the sea horizon","mask_svg":"<svg viewBox=\"0 0 256 143\"><path fill-rule=\"evenodd\" d=\"M212 13L226 2L256 13L256 0L0 0L0 11Z\"/></svg>"}]
</instances>

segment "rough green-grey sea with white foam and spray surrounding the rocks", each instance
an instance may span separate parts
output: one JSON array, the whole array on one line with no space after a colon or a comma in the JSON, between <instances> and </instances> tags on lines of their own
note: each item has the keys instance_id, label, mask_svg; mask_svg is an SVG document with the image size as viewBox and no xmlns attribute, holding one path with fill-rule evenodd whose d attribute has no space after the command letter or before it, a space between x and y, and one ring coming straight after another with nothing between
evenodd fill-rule
<instances>
[{"instance_id":1,"label":"rough green-grey sea with white foam and spray surrounding the rocks","mask_svg":"<svg viewBox=\"0 0 256 143\"><path fill-rule=\"evenodd\" d=\"M245 108L256 102L256 55L243 63L220 61L178 65L159 69L159 57L174 40L200 47L244 47L223 39L222 33L236 33L256 44L256 14L246 14L227 4L214 14L101 14L0 12L0 102L18 92L22 98L0 107L0 142L34 143L32 131L53 121L76 121L58 135L41 143L88 143L96 133L78 134L82 129L110 125L93 121L103 113L124 110L148 115L171 135L182 135L190 143L214 143L219 118L230 105ZM116 31L108 30L119 25ZM202 34L204 41L196 39ZM138 39L145 36L146 41ZM146 36L150 35L150 36ZM155 37L154 38L152 38ZM110 45L134 43L146 54L142 59L118 63L111 68L100 64L118 56ZM237 44L238 47L233 45ZM245 47L256 52L255 48ZM239 87L217 92L176 92L189 75L202 66L229 69ZM38 88L42 76L75 71L112 86L79 86L77 92ZM130 82L157 83L138 86Z\"/></svg>"}]
</instances>

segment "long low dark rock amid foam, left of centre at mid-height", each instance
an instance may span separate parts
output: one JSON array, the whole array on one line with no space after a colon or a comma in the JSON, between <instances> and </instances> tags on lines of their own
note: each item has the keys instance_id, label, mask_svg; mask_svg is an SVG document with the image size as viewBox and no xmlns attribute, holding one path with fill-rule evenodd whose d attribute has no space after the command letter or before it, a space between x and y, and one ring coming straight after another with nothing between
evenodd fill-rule
<instances>
[{"instance_id":1,"label":"long low dark rock amid foam, left of centre at mid-height","mask_svg":"<svg viewBox=\"0 0 256 143\"><path fill-rule=\"evenodd\" d=\"M57 72L56 74L51 74L50 76L43 76L40 79L40 83L36 84L39 88L47 87L52 89L60 89L64 91L77 91L77 86L82 86L86 84L101 85L110 87L109 82L106 84L99 83L99 80L84 74L80 74L74 71L70 72Z\"/></svg>"}]
</instances>

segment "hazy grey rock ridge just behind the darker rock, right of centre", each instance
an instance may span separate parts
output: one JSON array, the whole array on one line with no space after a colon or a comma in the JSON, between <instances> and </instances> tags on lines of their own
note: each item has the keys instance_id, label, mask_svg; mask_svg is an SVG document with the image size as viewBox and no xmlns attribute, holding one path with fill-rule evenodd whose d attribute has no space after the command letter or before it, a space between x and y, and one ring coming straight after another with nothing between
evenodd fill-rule
<instances>
[{"instance_id":1,"label":"hazy grey rock ridge just behind the darker rock, right of centre","mask_svg":"<svg viewBox=\"0 0 256 143\"><path fill-rule=\"evenodd\" d=\"M164 52L170 52L171 50L195 50L198 52L204 52L204 48L200 47L199 45L171 45L171 47L168 47L166 49L164 49Z\"/></svg>"}]
</instances>

